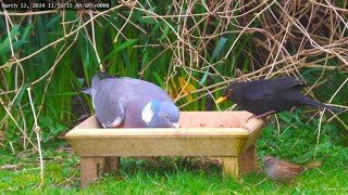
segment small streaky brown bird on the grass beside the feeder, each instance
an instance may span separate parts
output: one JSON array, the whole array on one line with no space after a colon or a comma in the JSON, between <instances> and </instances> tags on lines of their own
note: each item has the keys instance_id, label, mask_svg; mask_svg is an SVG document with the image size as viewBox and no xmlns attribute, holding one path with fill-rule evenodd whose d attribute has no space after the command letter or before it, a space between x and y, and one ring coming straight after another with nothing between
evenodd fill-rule
<instances>
[{"instance_id":1,"label":"small streaky brown bird on the grass beside the feeder","mask_svg":"<svg viewBox=\"0 0 348 195\"><path fill-rule=\"evenodd\" d=\"M319 167L320 162L312 162L304 167L265 156L262 159L264 173L275 182L291 182L294 178L309 168Z\"/></svg>"}]
</instances>

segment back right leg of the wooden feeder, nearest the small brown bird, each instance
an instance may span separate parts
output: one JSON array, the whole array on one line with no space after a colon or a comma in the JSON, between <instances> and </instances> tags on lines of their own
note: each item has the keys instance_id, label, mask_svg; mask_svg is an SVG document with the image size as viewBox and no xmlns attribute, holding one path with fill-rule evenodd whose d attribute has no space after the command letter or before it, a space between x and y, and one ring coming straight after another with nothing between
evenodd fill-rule
<instances>
[{"instance_id":1,"label":"back right leg of the wooden feeder, nearest the small brown bird","mask_svg":"<svg viewBox=\"0 0 348 195\"><path fill-rule=\"evenodd\" d=\"M239 171L243 174L254 172L258 169L258 156L256 144L243 152L239 156Z\"/></svg>"}]
</instances>

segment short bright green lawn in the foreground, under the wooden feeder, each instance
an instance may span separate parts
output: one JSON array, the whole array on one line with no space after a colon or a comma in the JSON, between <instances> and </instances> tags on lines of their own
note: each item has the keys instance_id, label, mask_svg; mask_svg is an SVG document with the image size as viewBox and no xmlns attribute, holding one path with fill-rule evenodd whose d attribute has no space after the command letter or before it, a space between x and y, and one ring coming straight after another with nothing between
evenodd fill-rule
<instances>
[{"instance_id":1,"label":"short bright green lawn in the foreground, under the wooden feeder","mask_svg":"<svg viewBox=\"0 0 348 195\"><path fill-rule=\"evenodd\" d=\"M262 144L262 141L260 141ZM79 157L70 151L46 150L45 184L40 183L37 155L30 152L16 156L1 155L1 193L75 194L79 191ZM343 158L348 150L341 147L322 161L319 169L300 174L291 187L265 180L259 171L243 176L238 180L222 177L221 167L207 158L157 157L158 165L144 159L123 158L122 171L102 176L97 184L90 185L88 194L115 192L127 194L347 194L348 165ZM11 166L10 166L11 165ZM261 168L261 167L260 167Z\"/></svg>"}]
</instances>

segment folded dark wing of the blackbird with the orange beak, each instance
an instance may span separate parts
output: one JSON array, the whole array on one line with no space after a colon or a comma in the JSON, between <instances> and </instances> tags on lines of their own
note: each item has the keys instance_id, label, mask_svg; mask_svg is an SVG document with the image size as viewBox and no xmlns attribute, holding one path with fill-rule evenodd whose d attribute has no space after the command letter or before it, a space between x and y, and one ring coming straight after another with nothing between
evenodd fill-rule
<instances>
[{"instance_id":1,"label":"folded dark wing of the blackbird with the orange beak","mask_svg":"<svg viewBox=\"0 0 348 195\"><path fill-rule=\"evenodd\" d=\"M282 93L287 90L300 88L301 81L295 77L281 77L270 80L256 80L244 91L244 99L249 101L260 101L268 99L276 93Z\"/></svg>"}]
</instances>

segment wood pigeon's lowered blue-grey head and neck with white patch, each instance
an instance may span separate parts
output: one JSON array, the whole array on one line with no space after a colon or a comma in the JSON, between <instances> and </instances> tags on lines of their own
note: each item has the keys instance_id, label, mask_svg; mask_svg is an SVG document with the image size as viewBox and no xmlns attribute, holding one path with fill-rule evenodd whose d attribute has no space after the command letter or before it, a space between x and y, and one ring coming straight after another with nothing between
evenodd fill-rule
<instances>
[{"instance_id":1,"label":"wood pigeon's lowered blue-grey head and neck with white patch","mask_svg":"<svg viewBox=\"0 0 348 195\"><path fill-rule=\"evenodd\" d=\"M151 101L141 112L141 119L150 128L178 128L179 110L173 102Z\"/></svg>"}]
</instances>

